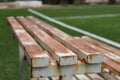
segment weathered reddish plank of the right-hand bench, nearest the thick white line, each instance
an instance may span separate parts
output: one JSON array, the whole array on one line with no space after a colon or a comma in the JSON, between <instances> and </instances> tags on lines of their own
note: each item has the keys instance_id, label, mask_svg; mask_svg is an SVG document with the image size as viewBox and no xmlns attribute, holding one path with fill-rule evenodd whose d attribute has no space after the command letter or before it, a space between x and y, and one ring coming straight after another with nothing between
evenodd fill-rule
<instances>
[{"instance_id":1,"label":"weathered reddish plank of the right-hand bench, nearest the thick white line","mask_svg":"<svg viewBox=\"0 0 120 80\"><path fill-rule=\"evenodd\" d=\"M100 42L100 41L97 41L97 40L95 40L95 39L93 39L93 38L90 38L90 37L88 37L88 36L83 36L82 38L90 41L91 43L94 43L95 45L97 45L97 46L99 46L99 47L101 47L101 48L104 48L104 49L106 49L106 50L108 50L108 51L111 51L112 53L115 53L115 54L117 54L117 55L120 56L120 50L117 49L117 48L114 48L114 47L112 47L112 46L109 46L109 45L107 45L107 44L104 44L104 43L102 43L102 42Z\"/></svg>"}]
</instances>

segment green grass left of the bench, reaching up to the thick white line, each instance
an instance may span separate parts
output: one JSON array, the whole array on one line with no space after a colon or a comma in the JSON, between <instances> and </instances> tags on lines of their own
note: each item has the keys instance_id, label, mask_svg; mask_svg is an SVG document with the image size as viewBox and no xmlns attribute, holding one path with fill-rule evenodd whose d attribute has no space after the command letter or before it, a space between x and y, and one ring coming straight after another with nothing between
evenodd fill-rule
<instances>
[{"instance_id":1,"label":"green grass left of the bench, reaching up to the thick white line","mask_svg":"<svg viewBox=\"0 0 120 80\"><path fill-rule=\"evenodd\" d=\"M31 15L26 9L0 10L0 77L1 80L19 80L17 40L7 23L8 16ZM27 64L28 65L28 64ZM27 70L28 71L28 70ZM27 75L28 76L28 75Z\"/></svg>"}]
</instances>

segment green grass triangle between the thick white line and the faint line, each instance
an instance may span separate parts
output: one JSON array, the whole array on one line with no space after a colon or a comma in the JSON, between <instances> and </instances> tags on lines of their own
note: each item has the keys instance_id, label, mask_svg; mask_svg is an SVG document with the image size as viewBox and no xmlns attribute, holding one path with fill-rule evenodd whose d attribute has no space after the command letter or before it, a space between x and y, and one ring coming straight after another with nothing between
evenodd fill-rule
<instances>
[{"instance_id":1,"label":"green grass triangle between the thick white line and the faint line","mask_svg":"<svg viewBox=\"0 0 120 80\"><path fill-rule=\"evenodd\" d=\"M120 16L109 18L69 19L62 21L120 43Z\"/></svg>"}]
</instances>

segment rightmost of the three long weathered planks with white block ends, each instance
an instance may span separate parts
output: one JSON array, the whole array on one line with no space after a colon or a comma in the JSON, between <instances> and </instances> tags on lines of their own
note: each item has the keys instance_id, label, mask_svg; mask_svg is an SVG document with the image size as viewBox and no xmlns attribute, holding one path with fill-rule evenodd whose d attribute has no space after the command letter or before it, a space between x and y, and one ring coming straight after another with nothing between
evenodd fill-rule
<instances>
[{"instance_id":1,"label":"rightmost of the three long weathered planks with white block ends","mask_svg":"<svg viewBox=\"0 0 120 80\"><path fill-rule=\"evenodd\" d=\"M29 16L27 17L27 19L36 23L42 30L44 30L49 35L57 39L59 42L63 43L66 47L77 53L81 60L84 60L87 63L101 63L103 61L102 54L100 54L93 48L74 41L74 39L70 35L67 35L66 33L35 17ZM68 38L71 40L68 40Z\"/></svg>"}]
</instances>

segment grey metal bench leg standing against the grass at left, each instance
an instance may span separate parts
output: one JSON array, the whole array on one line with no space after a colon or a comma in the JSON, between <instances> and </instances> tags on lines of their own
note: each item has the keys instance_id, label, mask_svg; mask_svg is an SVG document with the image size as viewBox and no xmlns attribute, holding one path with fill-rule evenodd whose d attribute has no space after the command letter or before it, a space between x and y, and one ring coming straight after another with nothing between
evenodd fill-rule
<instances>
[{"instance_id":1,"label":"grey metal bench leg standing against the grass at left","mask_svg":"<svg viewBox=\"0 0 120 80\"><path fill-rule=\"evenodd\" d=\"M24 51L19 45L20 80L24 80Z\"/></svg>"}]
</instances>

